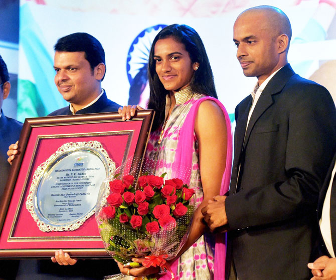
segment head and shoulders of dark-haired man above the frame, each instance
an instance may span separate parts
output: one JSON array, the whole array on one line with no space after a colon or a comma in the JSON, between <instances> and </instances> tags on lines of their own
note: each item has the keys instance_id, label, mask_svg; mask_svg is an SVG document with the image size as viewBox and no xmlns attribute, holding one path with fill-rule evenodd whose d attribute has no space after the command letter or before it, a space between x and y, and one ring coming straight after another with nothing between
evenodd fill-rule
<instances>
[{"instance_id":1,"label":"head and shoulders of dark-haired man above the frame","mask_svg":"<svg viewBox=\"0 0 336 280\"><path fill-rule=\"evenodd\" d=\"M118 111L119 104L107 99L101 88L106 65L100 42L87 33L74 33L59 39L54 47L55 84L68 107L49 116Z\"/></svg>"}]
</instances>

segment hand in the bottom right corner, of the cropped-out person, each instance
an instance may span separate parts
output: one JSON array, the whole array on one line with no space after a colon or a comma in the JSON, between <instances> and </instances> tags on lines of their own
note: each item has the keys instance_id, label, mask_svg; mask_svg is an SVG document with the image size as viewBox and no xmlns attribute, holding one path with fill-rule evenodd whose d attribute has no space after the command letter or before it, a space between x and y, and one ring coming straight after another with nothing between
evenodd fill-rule
<instances>
[{"instance_id":1,"label":"hand in the bottom right corner, of the cropped-out person","mask_svg":"<svg viewBox=\"0 0 336 280\"><path fill-rule=\"evenodd\" d=\"M308 263L308 267L314 275L310 280L336 280L336 258L323 255Z\"/></svg>"}]
</instances>

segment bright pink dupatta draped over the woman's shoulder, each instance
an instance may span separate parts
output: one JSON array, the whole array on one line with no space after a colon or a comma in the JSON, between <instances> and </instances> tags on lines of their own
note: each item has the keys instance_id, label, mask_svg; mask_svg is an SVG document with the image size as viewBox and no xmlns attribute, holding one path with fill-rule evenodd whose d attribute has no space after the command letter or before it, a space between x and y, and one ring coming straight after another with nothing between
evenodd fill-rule
<instances>
[{"instance_id":1,"label":"bright pink dupatta draped over the woman's shoulder","mask_svg":"<svg viewBox=\"0 0 336 280\"><path fill-rule=\"evenodd\" d=\"M226 109L223 104L213 97L204 97L198 99L190 109L186 120L181 128L180 137L178 146L176 149L175 161L173 164L173 170L179 170L179 166L192 166L192 157L193 157L193 140L194 140L194 126L195 126L195 118L198 112L198 108L201 103L205 100L212 100L217 103L217 105L222 109L223 114L225 116L225 122L227 127L227 146L226 146L226 165L225 171L222 178L222 185L220 195L224 195L230 186L230 178L231 178L231 167L232 167L232 131L231 131L231 121L229 118ZM223 147L224 149L225 147ZM216 245L215 245L215 259L214 259L214 280L223 279L223 275L225 275L225 260L226 260L226 237L227 234L218 233L216 234ZM179 258L174 262L171 262L171 268L175 275L177 275ZM178 276L178 275L177 275ZM166 273L159 277L160 280L170 280L171 273Z\"/></svg>"}]
</instances>

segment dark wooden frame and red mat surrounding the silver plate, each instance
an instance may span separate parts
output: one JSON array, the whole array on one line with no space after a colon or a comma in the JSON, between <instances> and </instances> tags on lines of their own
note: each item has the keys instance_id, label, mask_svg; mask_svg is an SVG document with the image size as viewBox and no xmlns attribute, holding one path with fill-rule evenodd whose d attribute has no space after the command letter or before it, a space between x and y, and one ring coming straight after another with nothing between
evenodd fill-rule
<instances>
[{"instance_id":1,"label":"dark wooden frame and red mat surrounding the silver plate","mask_svg":"<svg viewBox=\"0 0 336 280\"><path fill-rule=\"evenodd\" d=\"M26 119L0 205L0 257L44 258L57 249L77 258L107 257L94 214L75 230L41 231L26 206L30 187L37 168L65 143L98 141L115 167L143 158L153 117L143 110L127 121L117 112Z\"/></svg>"}]
</instances>

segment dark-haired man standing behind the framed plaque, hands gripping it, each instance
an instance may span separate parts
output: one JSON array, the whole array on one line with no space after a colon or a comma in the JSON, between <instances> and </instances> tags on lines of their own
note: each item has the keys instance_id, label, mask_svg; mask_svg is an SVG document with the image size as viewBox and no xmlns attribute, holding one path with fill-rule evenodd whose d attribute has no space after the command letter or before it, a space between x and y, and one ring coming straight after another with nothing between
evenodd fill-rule
<instances>
[{"instance_id":1,"label":"dark-haired man standing behind the framed plaque, hands gripping it","mask_svg":"<svg viewBox=\"0 0 336 280\"><path fill-rule=\"evenodd\" d=\"M120 105L107 99L101 88L104 79L105 53L100 42L87 33L74 33L60 38L55 47L55 84L70 104L49 114L75 115L117 111ZM12 162L17 144L7 152ZM57 263L52 263L58 262ZM21 279L102 279L116 273L118 268L111 259L79 260L59 250L51 260L21 260L17 280ZM63 265L62 267L59 265Z\"/></svg>"}]
</instances>

